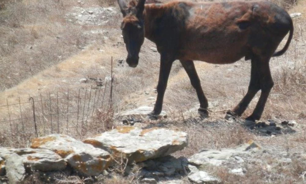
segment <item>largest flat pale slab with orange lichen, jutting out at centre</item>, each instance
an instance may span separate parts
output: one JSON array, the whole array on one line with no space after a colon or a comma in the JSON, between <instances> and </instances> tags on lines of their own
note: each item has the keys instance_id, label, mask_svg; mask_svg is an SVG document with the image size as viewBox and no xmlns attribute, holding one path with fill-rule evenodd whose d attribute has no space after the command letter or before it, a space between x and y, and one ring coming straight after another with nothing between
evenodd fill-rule
<instances>
[{"instance_id":1,"label":"largest flat pale slab with orange lichen, jutting out at centre","mask_svg":"<svg viewBox=\"0 0 306 184\"><path fill-rule=\"evenodd\" d=\"M130 162L142 162L182 150L187 146L187 133L164 128L122 126L90 137L84 143L105 149L115 157L127 158Z\"/></svg>"}]
</instances>

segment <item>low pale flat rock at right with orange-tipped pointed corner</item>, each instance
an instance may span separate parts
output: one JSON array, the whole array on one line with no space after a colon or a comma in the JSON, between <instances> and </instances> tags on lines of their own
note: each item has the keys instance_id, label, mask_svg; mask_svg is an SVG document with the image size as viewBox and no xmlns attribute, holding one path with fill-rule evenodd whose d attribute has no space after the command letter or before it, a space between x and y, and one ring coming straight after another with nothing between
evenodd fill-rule
<instances>
[{"instance_id":1,"label":"low pale flat rock at right with orange-tipped pointed corner","mask_svg":"<svg viewBox=\"0 0 306 184\"><path fill-rule=\"evenodd\" d=\"M250 140L248 143L243 144L234 149L222 149L222 150L202 150L195 155L192 155L188 159L189 163L196 166L201 165L214 165L220 166L223 162L229 159L236 159L243 162L243 159L239 155L248 155L252 151L258 151L262 149L259 144Z\"/></svg>"}]
</instances>

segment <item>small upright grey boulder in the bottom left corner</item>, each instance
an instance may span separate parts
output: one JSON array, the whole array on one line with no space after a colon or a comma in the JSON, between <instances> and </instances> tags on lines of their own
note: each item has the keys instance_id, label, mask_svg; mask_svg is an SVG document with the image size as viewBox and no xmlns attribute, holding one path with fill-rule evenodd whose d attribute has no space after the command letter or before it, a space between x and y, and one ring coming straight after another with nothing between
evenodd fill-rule
<instances>
[{"instance_id":1,"label":"small upright grey boulder in the bottom left corner","mask_svg":"<svg viewBox=\"0 0 306 184\"><path fill-rule=\"evenodd\" d=\"M19 183L24 179L25 169L23 160L24 158L16 153L12 153L9 157L7 157L5 168L6 176L10 184Z\"/></svg>"}]
</instances>

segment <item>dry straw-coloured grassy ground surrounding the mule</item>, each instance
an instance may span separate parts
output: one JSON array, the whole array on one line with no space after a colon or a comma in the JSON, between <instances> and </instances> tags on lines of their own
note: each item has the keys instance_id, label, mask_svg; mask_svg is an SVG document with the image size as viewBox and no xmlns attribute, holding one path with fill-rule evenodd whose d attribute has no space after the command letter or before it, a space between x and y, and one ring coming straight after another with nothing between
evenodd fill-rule
<instances>
[{"instance_id":1,"label":"dry straw-coloured grassy ground surrounding the mule","mask_svg":"<svg viewBox=\"0 0 306 184\"><path fill-rule=\"evenodd\" d=\"M101 6L106 9L99 9ZM92 10L93 15L100 16L99 19L91 17ZM258 158L260 164L249 165L251 168L245 176L237 177L222 169L212 169L211 173L222 178L224 183L305 183L305 160L296 159L294 154L306 152L306 1L298 1L288 11L300 12L302 16L293 19L295 32L289 50L270 61L275 85L261 119L295 121L296 124L291 127L293 131L263 135L242 125L242 119L252 113L260 93L241 120L224 120L223 110L233 108L248 89L250 62L244 60L229 65L195 62L212 111L210 117L204 120L192 110L198 107L196 92L176 61L164 98L163 110L168 117L158 121L146 120L141 126L163 126L188 132L189 146L176 153L177 157L189 157L203 148L233 148L250 139L274 155ZM80 79L110 76L110 60L113 57L115 113L142 105L153 106L159 54L150 49L155 45L145 40L136 68L128 67L124 61L119 63L127 54L120 20L121 13L114 2L59 0L48 4L44 0L28 0L6 4L6 8L0 9L0 105L5 105L6 100L17 102L19 97L28 101L29 96L39 93L90 87L94 85L92 82L81 83ZM6 116L6 108L0 108L0 117L3 119ZM113 121L116 122L116 119ZM6 141L1 142L5 140L3 132L9 125L1 126L0 145L11 146ZM280 158L291 158L293 162L279 165ZM271 165L272 169L267 169L267 165ZM125 179L103 181L126 183ZM186 178L183 181L188 183Z\"/></svg>"}]
</instances>

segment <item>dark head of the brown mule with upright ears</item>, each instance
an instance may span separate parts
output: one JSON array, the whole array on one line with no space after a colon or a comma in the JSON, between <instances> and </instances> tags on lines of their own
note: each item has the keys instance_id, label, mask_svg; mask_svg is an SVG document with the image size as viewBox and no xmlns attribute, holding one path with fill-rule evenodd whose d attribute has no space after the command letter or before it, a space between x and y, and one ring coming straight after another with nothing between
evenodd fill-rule
<instances>
[{"instance_id":1,"label":"dark head of the brown mule with upright ears","mask_svg":"<svg viewBox=\"0 0 306 184\"><path fill-rule=\"evenodd\" d=\"M144 2L132 0L127 5L125 0L118 0L118 4L123 14L121 30L123 40L128 51L126 63L130 67L136 67L139 60L141 45L144 43Z\"/></svg>"}]
</instances>

